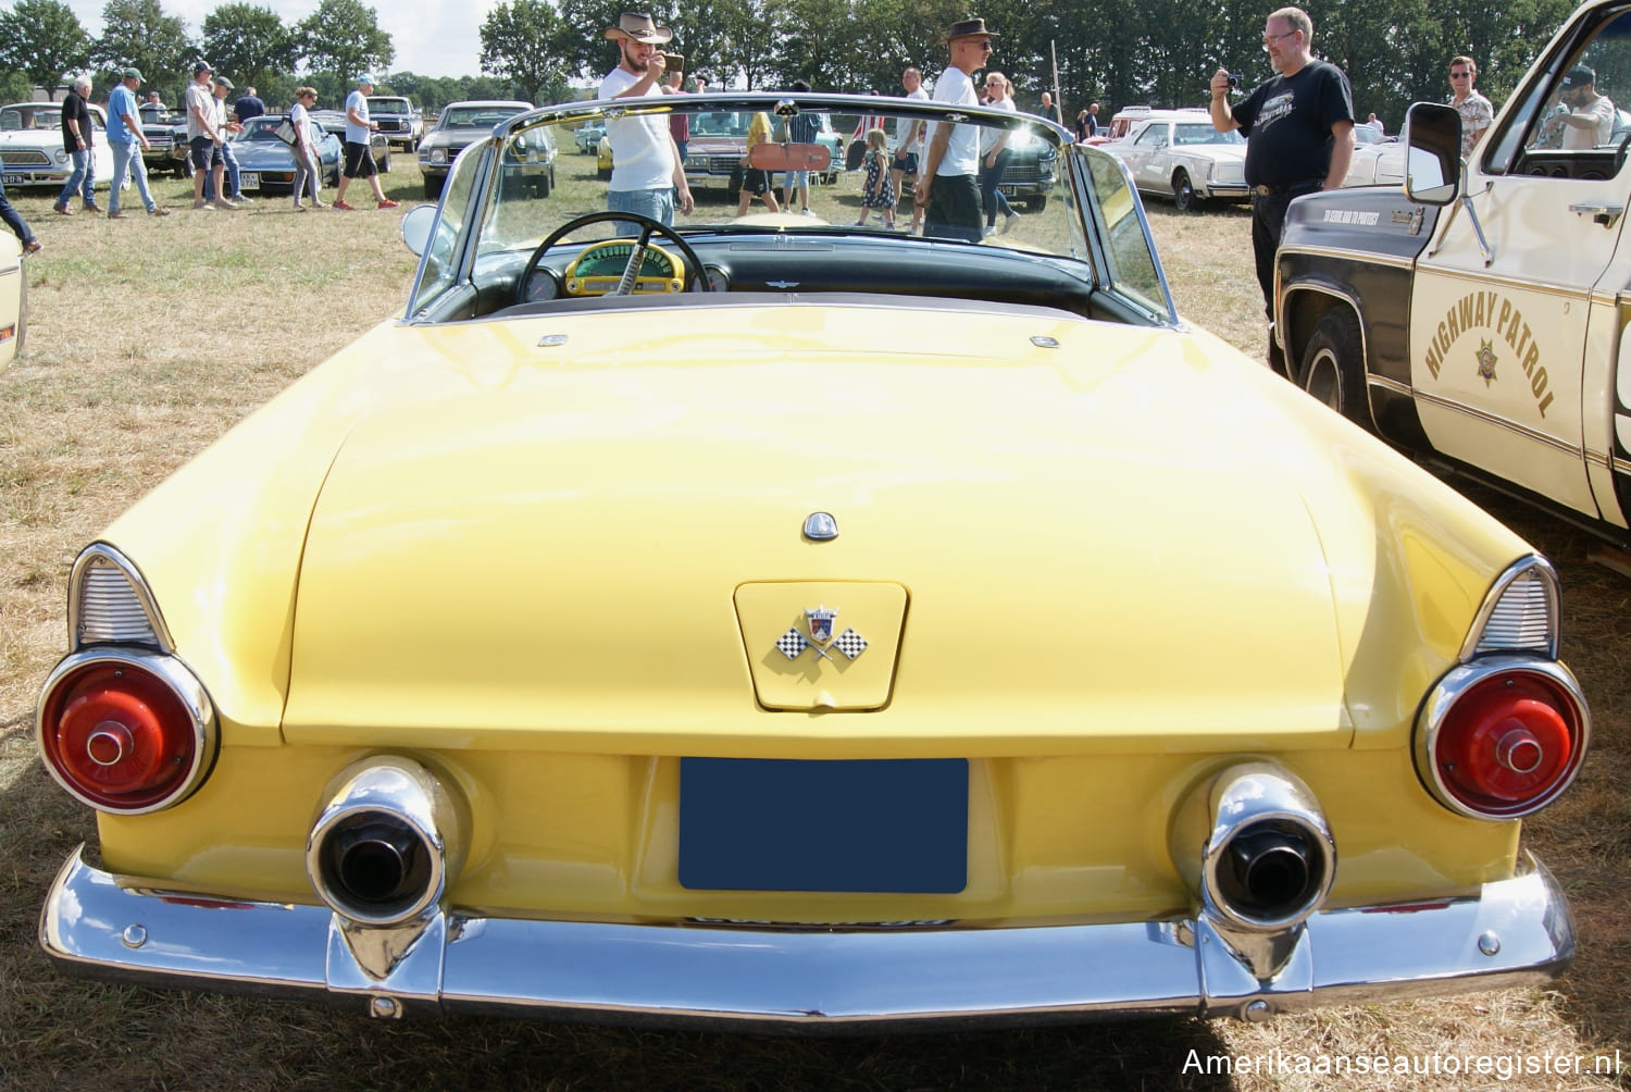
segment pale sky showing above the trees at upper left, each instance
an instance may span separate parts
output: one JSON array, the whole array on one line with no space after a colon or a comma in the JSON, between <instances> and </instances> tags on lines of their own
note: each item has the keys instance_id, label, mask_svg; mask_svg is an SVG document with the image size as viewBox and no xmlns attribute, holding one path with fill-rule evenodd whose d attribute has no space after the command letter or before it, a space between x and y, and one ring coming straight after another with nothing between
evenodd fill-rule
<instances>
[{"instance_id":1,"label":"pale sky showing above the trees at upper left","mask_svg":"<svg viewBox=\"0 0 1631 1092\"><path fill-rule=\"evenodd\" d=\"M246 0L271 8L284 23L298 23L316 11L318 0ZM380 29L391 36L396 57L390 72L419 75L478 75L481 23L496 0L362 0L373 8ZM101 34L106 0L67 0L90 34ZM192 38L202 38L204 16L223 0L160 0L165 15L176 15ZM230 73L227 73L230 75Z\"/></svg>"}]
</instances>

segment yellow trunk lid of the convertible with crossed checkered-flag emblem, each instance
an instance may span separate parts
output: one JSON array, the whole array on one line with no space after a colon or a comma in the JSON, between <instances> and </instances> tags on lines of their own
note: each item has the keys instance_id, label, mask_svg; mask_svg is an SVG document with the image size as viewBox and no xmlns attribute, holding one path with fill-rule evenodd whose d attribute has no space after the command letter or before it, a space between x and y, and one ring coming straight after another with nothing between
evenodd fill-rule
<instances>
[{"instance_id":1,"label":"yellow trunk lid of the convertible with crossed checkered-flag emblem","mask_svg":"<svg viewBox=\"0 0 1631 1092\"><path fill-rule=\"evenodd\" d=\"M731 752L763 735L754 673L786 615L825 606L899 638L882 700L864 728L822 721L843 679L814 664L811 708L785 713L811 720L752 746L1346 744L1352 650L1305 493L1352 485L1310 470L1310 437L1256 393L1267 374L1222 343L1021 310L388 331L370 353L391 402L351 431L310 521L285 736L550 728L568 748ZM910 356L884 348L904 323ZM1368 511L1321 504L1375 568ZM801 535L817 511L832 542ZM770 622L747 586L780 589ZM899 589L899 614L842 614L868 586Z\"/></svg>"}]
</instances>

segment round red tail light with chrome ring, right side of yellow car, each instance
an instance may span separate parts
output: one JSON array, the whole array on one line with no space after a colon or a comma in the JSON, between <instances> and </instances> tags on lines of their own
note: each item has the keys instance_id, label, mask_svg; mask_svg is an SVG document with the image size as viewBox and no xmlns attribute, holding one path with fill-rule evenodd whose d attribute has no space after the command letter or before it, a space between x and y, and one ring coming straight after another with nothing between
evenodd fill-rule
<instances>
[{"instance_id":1,"label":"round red tail light with chrome ring, right side of yellow car","mask_svg":"<svg viewBox=\"0 0 1631 1092\"><path fill-rule=\"evenodd\" d=\"M1463 815L1518 818L1567 788L1585 741L1585 702L1559 664L1541 671L1474 661L1429 700L1422 772Z\"/></svg>"}]
</instances>

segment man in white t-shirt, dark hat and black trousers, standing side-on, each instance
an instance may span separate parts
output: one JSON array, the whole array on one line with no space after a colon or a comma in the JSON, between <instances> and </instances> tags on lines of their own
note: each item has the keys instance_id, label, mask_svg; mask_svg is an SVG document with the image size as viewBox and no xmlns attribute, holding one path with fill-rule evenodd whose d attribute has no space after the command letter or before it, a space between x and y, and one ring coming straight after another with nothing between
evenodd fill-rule
<instances>
[{"instance_id":1,"label":"man in white t-shirt, dark hat and black trousers, standing side-on","mask_svg":"<svg viewBox=\"0 0 1631 1092\"><path fill-rule=\"evenodd\" d=\"M953 23L946 31L951 65L935 82L935 101L979 106L974 73L992 55L985 20ZM980 127L935 122L912 194L923 206L923 235L977 243L980 232Z\"/></svg>"}]
</instances>

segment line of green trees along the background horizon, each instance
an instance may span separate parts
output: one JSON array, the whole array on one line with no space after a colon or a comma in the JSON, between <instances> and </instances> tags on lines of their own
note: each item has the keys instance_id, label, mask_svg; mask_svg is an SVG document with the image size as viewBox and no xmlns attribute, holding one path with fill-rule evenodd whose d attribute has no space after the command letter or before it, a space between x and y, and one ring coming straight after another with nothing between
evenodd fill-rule
<instances>
[{"instance_id":1,"label":"line of green trees along the background horizon","mask_svg":"<svg viewBox=\"0 0 1631 1092\"><path fill-rule=\"evenodd\" d=\"M240 87L254 83L269 103L312 83L326 103L357 72L387 72L382 90L408 95L427 111L458 98L577 96L617 59L602 31L620 11L649 7L675 29L669 49L687 72L716 87L899 93L913 64L933 78L946 62L939 36L980 15L998 34L992 67L1014 80L1034 109L1055 87L1067 121L1090 101L1101 116L1127 104L1200 106L1218 67L1243 87L1271 75L1261 38L1277 3L1243 0L507 0L481 24L478 75L458 78L390 73L395 47L373 8L360 0L321 0L316 11L284 23L271 8L225 3L204 16L199 34L165 13L160 0L108 0L104 29L91 38L60 0L15 0L0 13L0 95L28 98L31 85L55 88L64 73L93 72L106 88L135 65L148 87L175 101L199 57ZM970 11L972 10L972 11ZM1396 129L1416 100L1443 100L1456 54L1479 65L1478 87L1496 104L1522 78L1574 0L1344 0L1310 3L1315 54L1342 67L1360 118L1375 113ZM1624 88L1631 98L1631 88Z\"/></svg>"}]
</instances>

